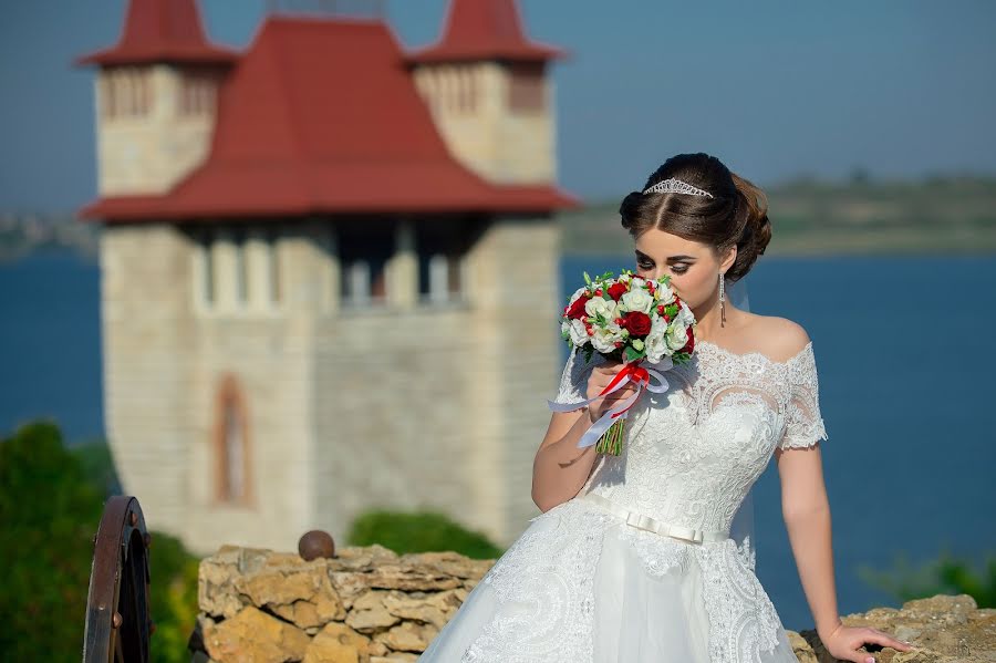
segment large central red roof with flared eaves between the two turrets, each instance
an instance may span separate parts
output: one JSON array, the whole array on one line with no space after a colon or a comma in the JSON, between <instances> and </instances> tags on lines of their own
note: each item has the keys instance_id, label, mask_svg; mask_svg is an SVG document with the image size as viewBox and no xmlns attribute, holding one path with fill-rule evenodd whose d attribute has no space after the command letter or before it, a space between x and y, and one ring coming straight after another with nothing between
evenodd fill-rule
<instances>
[{"instance_id":1,"label":"large central red roof with flared eaves between the two turrets","mask_svg":"<svg viewBox=\"0 0 996 663\"><path fill-rule=\"evenodd\" d=\"M222 85L207 162L163 196L97 200L105 220L322 213L549 211L554 186L458 164L380 21L270 18Z\"/></svg>"}]
</instances>

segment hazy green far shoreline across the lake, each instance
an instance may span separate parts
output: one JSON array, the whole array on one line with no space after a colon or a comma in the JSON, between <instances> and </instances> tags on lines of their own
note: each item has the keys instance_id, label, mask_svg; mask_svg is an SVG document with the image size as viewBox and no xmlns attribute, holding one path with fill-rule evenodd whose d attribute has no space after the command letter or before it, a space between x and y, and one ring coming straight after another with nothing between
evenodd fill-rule
<instances>
[{"instance_id":1,"label":"hazy green far shoreline across the lake","mask_svg":"<svg viewBox=\"0 0 996 663\"><path fill-rule=\"evenodd\" d=\"M823 183L770 187L771 242L765 256L922 256L996 253L996 178ZM619 203L589 201L556 215L561 253L630 253ZM65 214L0 213L0 265L38 251L69 250L96 261L100 224Z\"/></svg>"}]
</instances>

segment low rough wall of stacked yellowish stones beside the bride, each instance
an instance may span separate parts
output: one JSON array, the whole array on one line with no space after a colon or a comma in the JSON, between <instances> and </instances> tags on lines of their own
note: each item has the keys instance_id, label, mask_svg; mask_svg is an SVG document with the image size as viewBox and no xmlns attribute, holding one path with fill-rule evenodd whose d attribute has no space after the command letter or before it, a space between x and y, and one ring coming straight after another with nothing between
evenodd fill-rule
<instances>
[{"instance_id":1,"label":"low rough wall of stacked yellowish stones beside the bride","mask_svg":"<svg viewBox=\"0 0 996 663\"><path fill-rule=\"evenodd\" d=\"M455 552L398 556L381 546L311 561L226 546L200 562L194 662L415 661L492 563ZM977 609L967 595L876 608L844 623L917 648L884 649L880 663L996 662L996 610ZM833 661L816 633L789 638L800 662Z\"/></svg>"}]
</instances>

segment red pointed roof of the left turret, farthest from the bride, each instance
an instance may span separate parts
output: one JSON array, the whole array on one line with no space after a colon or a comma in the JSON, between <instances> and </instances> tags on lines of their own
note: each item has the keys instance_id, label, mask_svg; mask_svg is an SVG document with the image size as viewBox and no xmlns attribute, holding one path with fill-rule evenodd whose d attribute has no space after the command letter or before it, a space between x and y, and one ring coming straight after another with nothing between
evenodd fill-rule
<instances>
[{"instance_id":1,"label":"red pointed roof of the left turret, farthest from the bride","mask_svg":"<svg viewBox=\"0 0 996 663\"><path fill-rule=\"evenodd\" d=\"M237 51L208 42L195 0L131 0L117 44L83 55L77 64L187 62L226 64Z\"/></svg>"}]
</instances>

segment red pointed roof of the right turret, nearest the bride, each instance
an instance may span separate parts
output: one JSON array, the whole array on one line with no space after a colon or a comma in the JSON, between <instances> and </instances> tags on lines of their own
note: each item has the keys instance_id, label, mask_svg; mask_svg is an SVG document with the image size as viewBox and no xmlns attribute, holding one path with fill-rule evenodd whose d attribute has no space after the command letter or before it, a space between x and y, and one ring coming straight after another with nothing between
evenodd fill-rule
<instances>
[{"instance_id":1,"label":"red pointed roof of the right turret, nearest the bride","mask_svg":"<svg viewBox=\"0 0 996 663\"><path fill-rule=\"evenodd\" d=\"M544 61L563 51L529 40L516 0L450 0L443 39L414 52L412 62Z\"/></svg>"}]
</instances>

